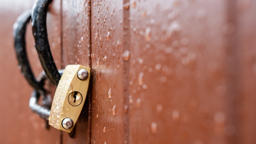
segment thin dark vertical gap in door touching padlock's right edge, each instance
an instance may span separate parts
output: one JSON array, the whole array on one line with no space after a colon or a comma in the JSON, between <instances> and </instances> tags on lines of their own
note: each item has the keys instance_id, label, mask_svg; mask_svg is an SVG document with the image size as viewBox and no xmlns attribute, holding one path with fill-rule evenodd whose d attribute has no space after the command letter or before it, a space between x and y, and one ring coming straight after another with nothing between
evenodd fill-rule
<instances>
[{"instance_id":1,"label":"thin dark vertical gap in door touching padlock's right edge","mask_svg":"<svg viewBox=\"0 0 256 144\"><path fill-rule=\"evenodd\" d=\"M89 19L89 24L88 24L88 27L89 27L89 38L88 38L88 44L89 44L89 46L87 46L87 48L88 48L88 53L90 54L90 56L89 56L89 67L91 68L92 67L92 64L91 64L91 33L92 33L92 31L91 31L91 8L92 8L92 1L91 0L88 0L90 3L88 4L89 6L88 7L90 7L89 8L89 10L88 10L88 19ZM89 88L88 88L88 100L89 100L89 110L88 110L88 131L89 131L89 138L88 138L88 140L89 140L89 143L91 143L91 103L92 103L92 94L93 94L93 92L92 92L92 80L93 80L93 74L91 73L91 80L90 80L90 85L89 85Z\"/></svg>"}]
</instances>

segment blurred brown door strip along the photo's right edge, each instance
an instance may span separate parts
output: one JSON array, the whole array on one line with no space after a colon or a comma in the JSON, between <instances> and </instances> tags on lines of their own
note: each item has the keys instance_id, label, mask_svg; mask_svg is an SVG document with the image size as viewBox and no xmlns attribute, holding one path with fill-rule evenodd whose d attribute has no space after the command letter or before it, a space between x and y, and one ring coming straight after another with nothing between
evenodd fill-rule
<instances>
[{"instance_id":1,"label":"blurred brown door strip along the photo's right edge","mask_svg":"<svg viewBox=\"0 0 256 144\"><path fill-rule=\"evenodd\" d=\"M237 79L236 92L239 101L237 143L256 143L256 2L237 1L233 5L233 9L236 10L236 15L233 16L236 36L232 39L232 49L237 57L233 65L236 70L234 77Z\"/></svg>"}]
</instances>

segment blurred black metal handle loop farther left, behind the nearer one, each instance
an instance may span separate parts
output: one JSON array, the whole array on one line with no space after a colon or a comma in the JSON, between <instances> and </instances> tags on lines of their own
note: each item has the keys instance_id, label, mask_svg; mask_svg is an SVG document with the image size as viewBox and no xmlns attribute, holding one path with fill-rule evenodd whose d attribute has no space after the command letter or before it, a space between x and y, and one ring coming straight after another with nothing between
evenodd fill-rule
<instances>
[{"instance_id":1,"label":"blurred black metal handle loop farther left, behind the nearer one","mask_svg":"<svg viewBox=\"0 0 256 144\"><path fill-rule=\"evenodd\" d=\"M19 62L19 66L21 68L22 74L26 78L27 82L37 90L41 90L45 92L44 89L44 81L37 81L35 80L33 71L31 70L29 60L27 59L27 52L26 52L26 41L25 41L25 34L26 34L26 26L31 19L31 10L27 10L20 15L15 24L13 25L13 37L15 39L15 51L17 60Z\"/></svg>"}]
</instances>

